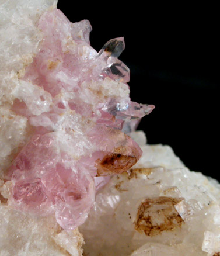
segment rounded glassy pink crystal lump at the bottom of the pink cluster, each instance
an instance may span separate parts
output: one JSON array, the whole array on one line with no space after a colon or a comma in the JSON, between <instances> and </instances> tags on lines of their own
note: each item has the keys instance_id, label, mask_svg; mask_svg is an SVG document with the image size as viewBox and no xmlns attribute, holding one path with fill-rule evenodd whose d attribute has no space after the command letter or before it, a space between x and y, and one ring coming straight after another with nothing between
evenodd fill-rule
<instances>
[{"instance_id":1,"label":"rounded glassy pink crystal lump at the bottom of the pink cluster","mask_svg":"<svg viewBox=\"0 0 220 256\"><path fill-rule=\"evenodd\" d=\"M65 167L65 161L71 167ZM15 182L13 205L42 215L53 210L64 229L74 229L85 221L95 199L89 169L79 168L68 155L57 152L53 133L33 136L9 171Z\"/></svg>"}]
</instances>

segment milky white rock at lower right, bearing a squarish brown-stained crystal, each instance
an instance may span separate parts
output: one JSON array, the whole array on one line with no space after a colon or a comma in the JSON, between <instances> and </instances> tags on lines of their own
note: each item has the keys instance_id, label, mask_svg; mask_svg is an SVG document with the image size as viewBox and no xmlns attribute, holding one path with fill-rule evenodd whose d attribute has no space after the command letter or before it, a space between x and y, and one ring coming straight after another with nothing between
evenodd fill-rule
<instances>
[{"instance_id":1,"label":"milky white rock at lower right, bearing a squarish brown-stained crystal","mask_svg":"<svg viewBox=\"0 0 220 256\"><path fill-rule=\"evenodd\" d=\"M169 146L141 148L137 164L97 193L80 227L85 255L219 255L218 182L189 171Z\"/></svg>"}]
</instances>

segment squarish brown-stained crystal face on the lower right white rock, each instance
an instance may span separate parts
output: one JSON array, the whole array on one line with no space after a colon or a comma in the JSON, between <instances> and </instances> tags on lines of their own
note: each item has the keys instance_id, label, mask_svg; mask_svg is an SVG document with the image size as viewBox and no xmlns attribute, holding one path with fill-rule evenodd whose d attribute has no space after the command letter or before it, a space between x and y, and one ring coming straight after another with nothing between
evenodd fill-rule
<instances>
[{"instance_id":1,"label":"squarish brown-stained crystal face on the lower right white rock","mask_svg":"<svg viewBox=\"0 0 220 256\"><path fill-rule=\"evenodd\" d=\"M156 236L181 227L183 219L174 206L182 200L165 196L146 198L138 208L135 229L146 236Z\"/></svg>"}]
</instances>

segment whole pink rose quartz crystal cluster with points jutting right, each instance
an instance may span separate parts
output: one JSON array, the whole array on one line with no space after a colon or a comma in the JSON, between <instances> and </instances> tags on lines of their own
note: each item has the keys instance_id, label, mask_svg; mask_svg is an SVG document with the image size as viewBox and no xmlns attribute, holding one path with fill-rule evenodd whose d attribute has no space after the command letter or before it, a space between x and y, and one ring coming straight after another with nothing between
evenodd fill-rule
<instances>
[{"instance_id":1,"label":"whole pink rose quartz crystal cluster with points jutting right","mask_svg":"<svg viewBox=\"0 0 220 256\"><path fill-rule=\"evenodd\" d=\"M63 229L75 229L96 190L141 157L128 134L154 106L130 100L130 71L117 59L122 37L97 53L88 20L71 23L58 9L40 16L38 28L43 39L13 92L12 110L27 117L31 136L9 167L8 202L42 216L55 213Z\"/></svg>"}]
</instances>

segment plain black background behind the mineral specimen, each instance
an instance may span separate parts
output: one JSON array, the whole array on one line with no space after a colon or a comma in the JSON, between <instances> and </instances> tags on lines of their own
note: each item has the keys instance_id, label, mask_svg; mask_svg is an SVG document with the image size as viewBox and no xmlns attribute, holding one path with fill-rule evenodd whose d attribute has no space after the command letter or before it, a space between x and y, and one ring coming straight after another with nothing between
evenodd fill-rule
<instances>
[{"instance_id":1,"label":"plain black background behind the mineral specimen","mask_svg":"<svg viewBox=\"0 0 220 256\"><path fill-rule=\"evenodd\" d=\"M193 171L220 180L219 15L216 6L60 0L71 22L88 19L99 51L124 36L132 101L156 106L142 119L149 144L168 144Z\"/></svg>"}]
</instances>

